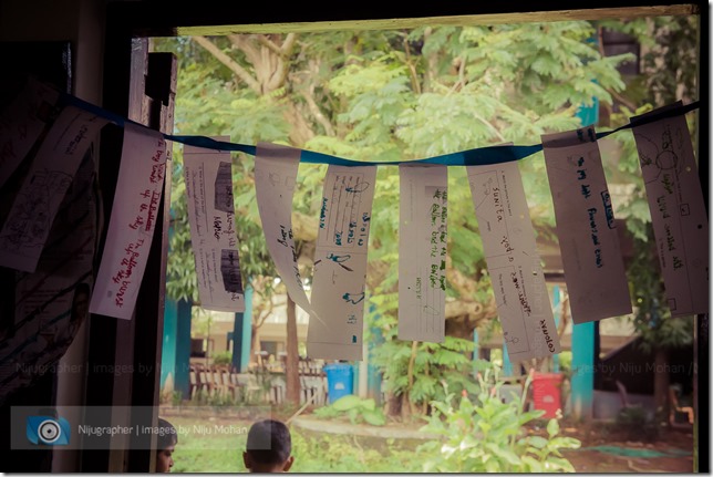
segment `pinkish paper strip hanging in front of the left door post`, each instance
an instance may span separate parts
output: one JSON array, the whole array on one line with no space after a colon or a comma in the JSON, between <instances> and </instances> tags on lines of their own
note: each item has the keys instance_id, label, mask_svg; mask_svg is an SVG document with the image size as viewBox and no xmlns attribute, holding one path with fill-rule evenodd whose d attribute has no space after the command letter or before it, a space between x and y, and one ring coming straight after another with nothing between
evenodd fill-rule
<instances>
[{"instance_id":1,"label":"pinkish paper strip hanging in front of the left door post","mask_svg":"<svg viewBox=\"0 0 713 477\"><path fill-rule=\"evenodd\" d=\"M106 243L90 311L131 320L154 237L166 169L161 133L127 123Z\"/></svg>"}]
</instances>

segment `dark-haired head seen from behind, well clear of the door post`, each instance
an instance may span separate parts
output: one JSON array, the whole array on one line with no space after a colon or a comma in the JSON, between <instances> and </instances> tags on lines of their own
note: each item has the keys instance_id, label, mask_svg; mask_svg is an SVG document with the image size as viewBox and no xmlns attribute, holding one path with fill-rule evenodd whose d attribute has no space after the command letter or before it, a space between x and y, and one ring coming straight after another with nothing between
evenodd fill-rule
<instances>
[{"instance_id":1,"label":"dark-haired head seen from behind, well clear of the door post","mask_svg":"<svg viewBox=\"0 0 713 477\"><path fill-rule=\"evenodd\" d=\"M279 421L265 419L250 427L242 462L251 473L286 473L294 460L291 453L290 429Z\"/></svg>"}]
</instances>

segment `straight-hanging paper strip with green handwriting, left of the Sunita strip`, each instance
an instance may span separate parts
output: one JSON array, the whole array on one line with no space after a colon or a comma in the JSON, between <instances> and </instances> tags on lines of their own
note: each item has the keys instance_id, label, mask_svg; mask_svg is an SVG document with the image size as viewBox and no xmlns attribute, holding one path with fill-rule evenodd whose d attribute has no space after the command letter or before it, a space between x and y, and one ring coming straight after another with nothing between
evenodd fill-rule
<instances>
[{"instance_id":1,"label":"straight-hanging paper strip with green handwriting, left of the Sunita strip","mask_svg":"<svg viewBox=\"0 0 713 477\"><path fill-rule=\"evenodd\" d=\"M401 165L399 214L399 339L443 342L448 172Z\"/></svg>"}]
</instances>

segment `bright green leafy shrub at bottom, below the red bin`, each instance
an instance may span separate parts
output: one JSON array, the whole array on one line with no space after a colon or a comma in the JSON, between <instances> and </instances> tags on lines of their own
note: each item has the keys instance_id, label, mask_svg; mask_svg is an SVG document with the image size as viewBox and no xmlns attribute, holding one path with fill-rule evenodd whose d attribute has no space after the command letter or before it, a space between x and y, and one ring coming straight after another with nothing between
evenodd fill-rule
<instances>
[{"instance_id":1,"label":"bright green leafy shrub at bottom, below the red bin","mask_svg":"<svg viewBox=\"0 0 713 477\"><path fill-rule=\"evenodd\" d=\"M547 436L528 435L525 425L542 416L544 411L524 411L527 380L519 400L503 402L497 369L478 373L479 392L472 402L464 393L454 405L454 393L433 402L433 414L424 432L442 439L422 444L418 454L432 456L426 473L556 473L575 471L561 449L579 448L581 443L559 436L556 418L547 423Z\"/></svg>"}]
</instances>

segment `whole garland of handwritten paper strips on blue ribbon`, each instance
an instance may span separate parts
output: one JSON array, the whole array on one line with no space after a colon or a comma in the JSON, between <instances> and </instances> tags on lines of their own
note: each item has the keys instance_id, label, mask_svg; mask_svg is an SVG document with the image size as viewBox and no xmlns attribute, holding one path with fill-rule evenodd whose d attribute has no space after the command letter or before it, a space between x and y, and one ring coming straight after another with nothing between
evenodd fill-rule
<instances>
[{"instance_id":1,"label":"whole garland of handwritten paper strips on blue ribbon","mask_svg":"<svg viewBox=\"0 0 713 477\"><path fill-rule=\"evenodd\" d=\"M709 312L709 225L684 114L676 103L627 126L544 135L533 146L489 146L389 163L400 169L399 338L441 342L445 329L451 166L467 170L493 292L510 360L560 351L516 160L542 151L575 323L631 312L598 141L631 128L673 315ZM54 114L48 114L53 112ZM23 160L29 172L0 229L0 266L33 273L59 204L100 129L124 127L116 196L90 311L132 319L166 174L167 142L180 142L192 243L204 308L242 311L231 151L255 155L256 198L268 249L289 295L310 314L308 355L362 359L366 257L379 163L227 137L151 131L30 81L0 114L0 187ZM35 149L33 147L39 145ZM30 151L35 154L29 154ZM312 290L302 284L292 237L300 162L328 164ZM465 185L464 185L465 186Z\"/></svg>"}]
</instances>

